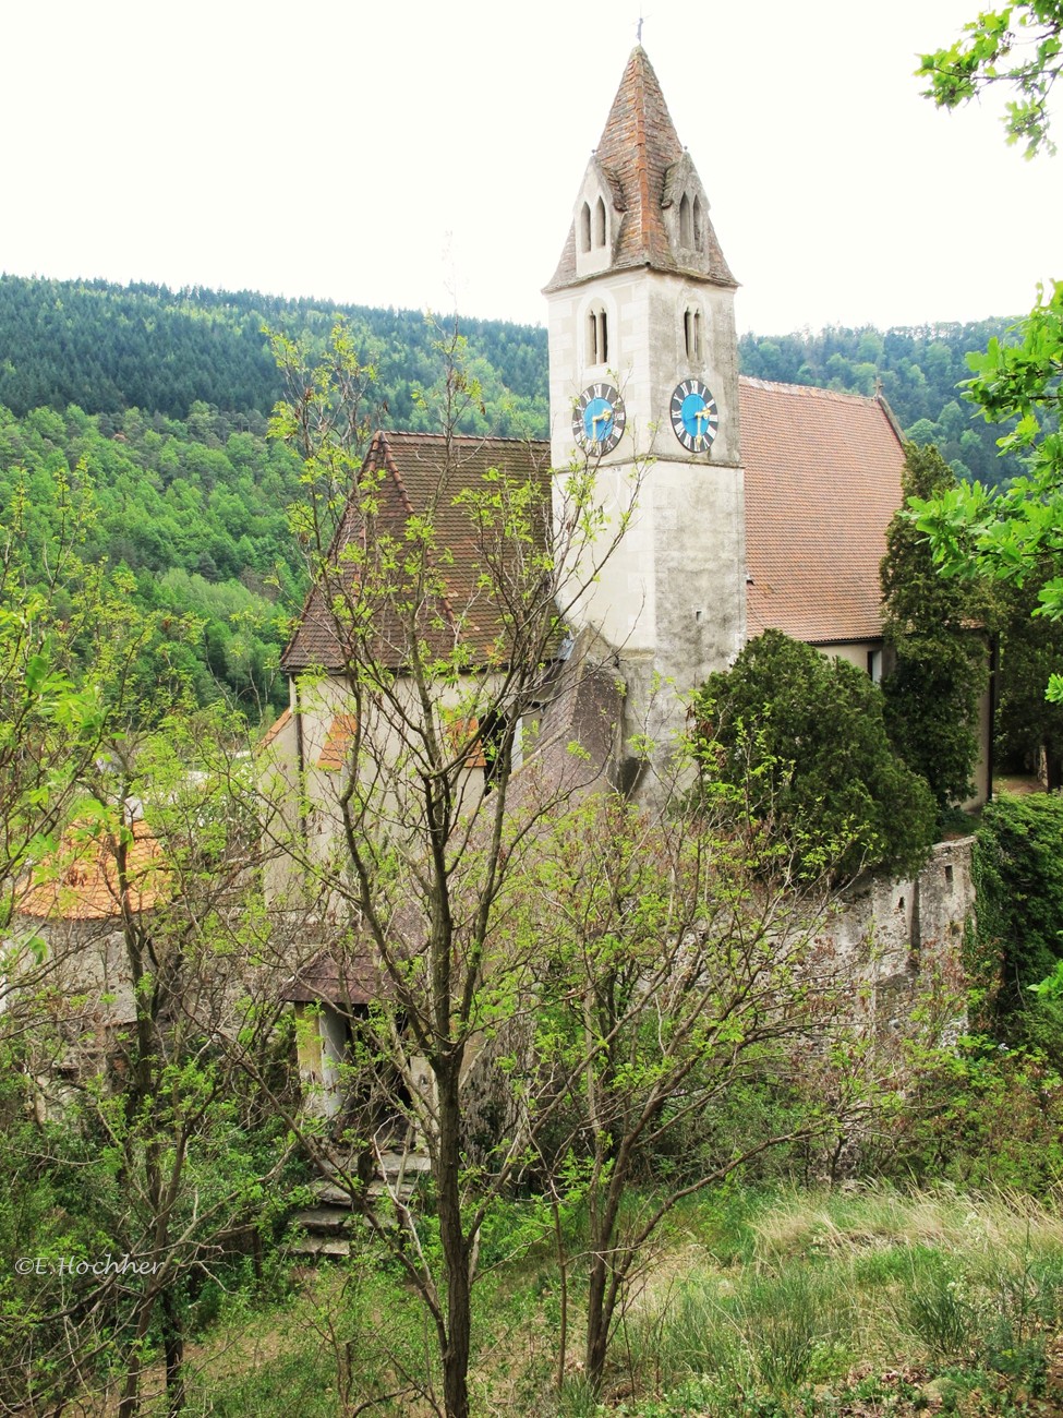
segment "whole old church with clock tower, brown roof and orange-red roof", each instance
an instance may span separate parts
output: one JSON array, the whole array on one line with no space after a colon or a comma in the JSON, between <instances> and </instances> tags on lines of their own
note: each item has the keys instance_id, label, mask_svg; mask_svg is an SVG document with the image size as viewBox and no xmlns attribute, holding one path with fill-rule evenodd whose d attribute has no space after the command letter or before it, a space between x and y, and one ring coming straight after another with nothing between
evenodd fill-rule
<instances>
[{"instance_id":1,"label":"whole old church with clock tower, brown roof and orange-red roof","mask_svg":"<svg viewBox=\"0 0 1063 1418\"><path fill-rule=\"evenodd\" d=\"M689 695L767 628L882 674L901 431L882 398L740 376L737 281L709 213L639 45L544 291L549 442L377 431L347 495L262 746L289 856L315 864L306 900L281 854L272 899L305 922L286 998L329 1113L354 1021L424 951L424 902L400 893L371 939L359 905L397 842L414 844L417 881L438 858L449 892L448 852L469 869L493 834L505 865L507 842L529 851L524 822L581 794L662 803ZM594 505L573 516L581 479ZM499 550L485 529L522 489L544 510ZM584 522L597 532L581 539ZM951 960L969 905L962 844L940 844L917 881L862 885L835 936L865 964L874 943L883 1018L920 950ZM330 947L346 930L354 947Z\"/></svg>"}]
</instances>

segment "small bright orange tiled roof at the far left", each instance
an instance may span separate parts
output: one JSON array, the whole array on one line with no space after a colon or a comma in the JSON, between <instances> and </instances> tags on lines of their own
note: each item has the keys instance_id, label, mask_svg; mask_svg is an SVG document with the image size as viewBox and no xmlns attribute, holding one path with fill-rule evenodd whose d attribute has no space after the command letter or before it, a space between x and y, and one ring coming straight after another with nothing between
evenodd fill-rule
<instances>
[{"instance_id":1,"label":"small bright orange tiled roof at the far left","mask_svg":"<svg viewBox=\"0 0 1063 1418\"><path fill-rule=\"evenodd\" d=\"M150 910L164 895L166 868L152 830L132 824L126 869L132 910ZM38 920L109 920L122 915L115 842L75 824L58 849L23 883L16 902L23 916Z\"/></svg>"}]
</instances>

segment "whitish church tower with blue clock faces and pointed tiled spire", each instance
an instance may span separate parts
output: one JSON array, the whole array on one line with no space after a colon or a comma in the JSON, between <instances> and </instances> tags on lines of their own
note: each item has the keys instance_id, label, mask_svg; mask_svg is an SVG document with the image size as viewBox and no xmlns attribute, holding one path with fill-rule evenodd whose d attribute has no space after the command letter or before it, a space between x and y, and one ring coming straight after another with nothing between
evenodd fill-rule
<instances>
[{"instance_id":1,"label":"whitish church tower with blue clock faces and pointed tiled spire","mask_svg":"<svg viewBox=\"0 0 1063 1418\"><path fill-rule=\"evenodd\" d=\"M636 510L574 615L619 654L626 733L662 744L685 695L744 642L743 469L731 275L697 169L638 45L546 286L551 458ZM558 479L560 486L560 479ZM670 682L653 693L660 679Z\"/></svg>"}]
</instances>

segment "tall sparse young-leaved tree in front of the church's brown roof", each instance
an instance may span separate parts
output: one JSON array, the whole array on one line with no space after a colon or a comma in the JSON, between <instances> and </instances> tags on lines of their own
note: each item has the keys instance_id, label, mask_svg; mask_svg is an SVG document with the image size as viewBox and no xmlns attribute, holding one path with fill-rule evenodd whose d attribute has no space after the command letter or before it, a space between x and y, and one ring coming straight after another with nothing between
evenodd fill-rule
<instances>
[{"instance_id":1,"label":"tall sparse young-leaved tree in front of the church's brown roof","mask_svg":"<svg viewBox=\"0 0 1063 1418\"><path fill-rule=\"evenodd\" d=\"M522 871L597 771L566 752L566 736L554 744L560 771L524 773L517 788L516 739L519 725L540 713L574 600L628 516L605 532L595 469L583 464L557 475L561 516L553 515L546 474L486 469L456 493L455 431L482 401L456 332L444 350L438 478L427 505L395 510L360 467L366 370L349 333L337 330L312 372L291 342L279 340L278 350L289 401L278 407L274 431L305 457L295 526L315 587L312 614L336 645L332 676L302 676L299 702L342 706L349 736L334 788L319 786L323 800L291 781L298 766L278 766L278 820L286 813L282 842L300 869L295 899L320 903L337 977L356 968L377 981L367 1017L351 1011L359 1046L346 1141L354 1157L337 1163L305 1123L291 1126L317 1166L340 1176L421 1297L442 1367L439 1407L465 1418L480 1234L526 1166L530 1141L517 1116L512 1130L489 1129L492 1141L471 1166L483 1071L503 1078L492 1048L507 1051L534 997L539 942L507 923ZM632 496L638 482L636 472ZM346 533L336 537L340 525ZM475 586L471 605L449 590L458 547L468 557L462 577ZM485 623L500 627L486 651L475 634ZM478 764L488 769L483 777ZM247 1066L255 1069L255 1059ZM400 1193L391 1198L398 1232L370 1205L381 1099L428 1151L428 1234Z\"/></svg>"}]
</instances>

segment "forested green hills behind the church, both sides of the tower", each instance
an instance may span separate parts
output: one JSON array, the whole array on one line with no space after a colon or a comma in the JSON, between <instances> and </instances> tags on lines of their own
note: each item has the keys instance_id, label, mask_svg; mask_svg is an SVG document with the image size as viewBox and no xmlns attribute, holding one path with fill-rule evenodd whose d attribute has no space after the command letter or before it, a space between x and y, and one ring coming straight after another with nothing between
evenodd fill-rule
<instances>
[{"instance_id":1,"label":"forested green hills behind the church, both sides of the tower","mask_svg":"<svg viewBox=\"0 0 1063 1418\"><path fill-rule=\"evenodd\" d=\"M45 574L72 478L94 503L85 553L129 567L142 608L180 618L201 702L224 692L257 713L283 699L275 665L305 579L286 519L299 467L266 440L282 381L265 330L323 352L340 316L376 369L376 421L432 428L444 357L421 312L0 277L0 525ZM744 336L740 353L763 379L880 386L916 441L938 442L961 476L998 481L1013 469L957 381L965 352L1005 325ZM461 329L480 389L466 431L544 437L546 330Z\"/></svg>"}]
</instances>

